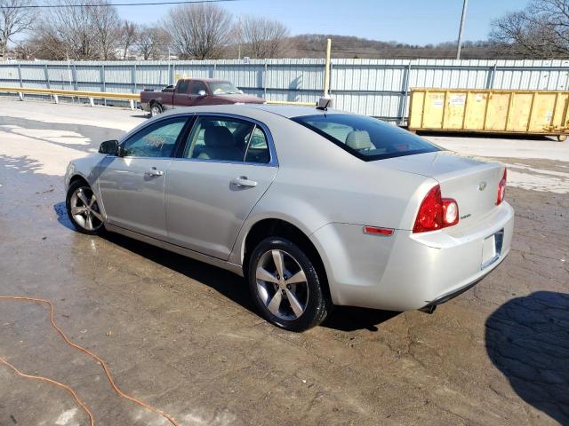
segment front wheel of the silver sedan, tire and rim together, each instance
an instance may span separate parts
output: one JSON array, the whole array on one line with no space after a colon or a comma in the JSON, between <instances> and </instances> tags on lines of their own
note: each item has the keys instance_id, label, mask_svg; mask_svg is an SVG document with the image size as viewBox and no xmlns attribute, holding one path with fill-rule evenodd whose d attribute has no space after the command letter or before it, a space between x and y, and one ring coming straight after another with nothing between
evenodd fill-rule
<instances>
[{"instance_id":1,"label":"front wheel of the silver sedan, tire and rim together","mask_svg":"<svg viewBox=\"0 0 569 426\"><path fill-rule=\"evenodd\" d=\"M65 204L68 217L77 231L94 235L103 230L97 197L85 182L76 180L69 185Z\"/></svg>"}]
</instances>

